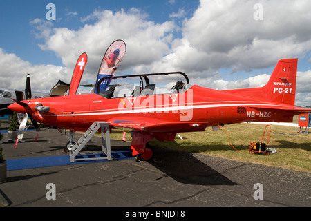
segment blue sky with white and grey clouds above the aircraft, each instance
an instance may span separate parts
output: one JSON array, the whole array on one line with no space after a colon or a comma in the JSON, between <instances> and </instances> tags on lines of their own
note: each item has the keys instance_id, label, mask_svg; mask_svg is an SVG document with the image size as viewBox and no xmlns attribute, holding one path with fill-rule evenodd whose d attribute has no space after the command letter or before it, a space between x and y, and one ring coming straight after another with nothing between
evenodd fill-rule
<instances>
[{"instance_id":1,"label":"blue sky with white and grey clouds above the aircraft","mask_svg":"<svg viewBox=\"0 0 311 221\"><path fill-rule=\"evenodd\" d=\"M218 90L263 86L279 59L298 58L296 104L310 105L310 8L310 0L3 0L0 87L22 89L29 72L32 90L49 92L59 79L70 83L82 52L82 84L93 83L106 48L123 39L115 75L179 70Z\"/></svg>"}]
</instances>

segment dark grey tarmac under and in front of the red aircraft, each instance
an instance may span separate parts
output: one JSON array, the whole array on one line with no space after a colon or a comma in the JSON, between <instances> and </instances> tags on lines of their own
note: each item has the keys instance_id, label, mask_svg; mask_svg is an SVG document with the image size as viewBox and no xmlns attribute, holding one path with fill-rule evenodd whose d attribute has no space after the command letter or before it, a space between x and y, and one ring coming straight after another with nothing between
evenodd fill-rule
<instances>
[{"instance_id":1,"label":"dark grey tarmac under and in front of the red aircraft","mask_svg":"<svg viewBox=\"0 0 311 221\"><path fill-rule=\"evenodd\" d=\"M1 130L5 126L1 122ZM66 135L46 129L34 142L35 135L27 131L25 142L15 149L4 133L0 146L5 159L68 155ZM76 133L75 140L79 136ZM100 151L101 145L101 137L93 137L84 151ZM130 151L130 146L111 140L111 151ZM6 182L0 184L0 207L311 206L311 173L164 148L155 151L153 162L131 158L7 171ZM48 200L52 190L55 200Z\"/></svg>"}]
</instances>

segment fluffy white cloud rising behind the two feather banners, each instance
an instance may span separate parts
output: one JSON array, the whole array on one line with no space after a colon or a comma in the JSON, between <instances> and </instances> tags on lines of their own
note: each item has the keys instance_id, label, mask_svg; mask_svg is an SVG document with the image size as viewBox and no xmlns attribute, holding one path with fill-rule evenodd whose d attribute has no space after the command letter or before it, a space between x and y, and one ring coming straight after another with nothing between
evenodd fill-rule
<instances>
[{"instance_id":1,"label":"fluffy white cloud rising behind the two feather banners","mask_svg":"<svg viewBox=\"0 0 311 221\"><path fill-rule=\"evenodd\" d=\"M95 79L106 48L115 39L123 39L128 50L120 70L132 66L148 66L170 52L169 41L174 23L154 23L147 21L146 17L135 8L115 13L110 10L95 10L92 15L82 19L84 22L95 20L92 24L85 24L79 30L53 28L50 36L42 35L46 37L46 41L41 48L55 52L68 68L73 68L77 57L82 52L87 52L89 59L85 75Z\"/></svg>"}]
</instances>

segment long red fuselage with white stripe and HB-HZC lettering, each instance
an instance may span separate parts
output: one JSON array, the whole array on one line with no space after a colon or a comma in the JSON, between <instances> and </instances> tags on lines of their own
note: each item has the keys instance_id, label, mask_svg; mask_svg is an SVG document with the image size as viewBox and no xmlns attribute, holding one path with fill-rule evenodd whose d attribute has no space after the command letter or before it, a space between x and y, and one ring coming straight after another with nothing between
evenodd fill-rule
<instances>
[{"instance_id":1,"label":"long red fuselage with white stripe and HB-HZC lettering","mask_svg":"<svg viewBox=\"0 0 311 221\"><path fill-rule=\"evenodd\" d=\"M252 121L291 122L297 114L287 111L292 109L289 104L196 85L183 93L111 99L93 93L31 99L27 103L28 111L37 122L73 131L85 131L95 121L111 123L120 117L127 119L127 124L148 117L158 122L202 122L206 127ZM38 104L49 106L50 111L39 113L35 110ZM202 131L200 125L193 125L191 131L196 128ZM189 128L176 126L175 132L182 131L189 131Z\"/></svg>"}]
</instances>

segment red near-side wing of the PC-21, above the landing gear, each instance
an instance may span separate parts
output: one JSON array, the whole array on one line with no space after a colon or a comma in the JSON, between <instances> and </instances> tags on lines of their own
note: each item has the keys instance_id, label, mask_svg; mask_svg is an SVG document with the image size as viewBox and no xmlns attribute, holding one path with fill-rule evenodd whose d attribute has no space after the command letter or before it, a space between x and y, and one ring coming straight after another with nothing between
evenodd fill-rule
<instances>
[{"instance_id":1,"label":"red near-side wing of the PC-21, above the landing gear","mask_svg":"<svg viewBox=\"0 0 311 221\"><path fill-rule=\"evenodd\" d=\"M133 117L122 118L115 117L108 121L111 126L132 128L139 131L149 132L187 132L187 131L204 131L208 126L207 122L165 122L160 119L152 119L150 117Z\"/></svg>"}]
</instances>

